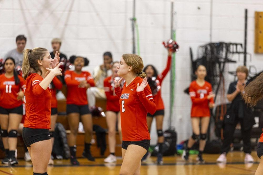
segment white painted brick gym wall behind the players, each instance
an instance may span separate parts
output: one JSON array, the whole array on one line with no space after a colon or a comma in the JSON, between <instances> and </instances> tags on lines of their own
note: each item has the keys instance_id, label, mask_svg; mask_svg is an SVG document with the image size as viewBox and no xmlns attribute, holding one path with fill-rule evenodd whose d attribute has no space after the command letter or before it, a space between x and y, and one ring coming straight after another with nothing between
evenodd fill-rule
<instances>
[{"instance_id":1,"label":"white painted brick gym wall behind the players","mask_svg":"<svg viewBox=\"0 0 263 175\"><path fill-rule=\"evenodd\" d=\"M192 47L196 58L197 48L210 40L210 0L176 0L176 41L180 45L176 54L176 87L173 126L178 132L178 142L188 138L191 131L191 101L183 90L190 84L190 55ZM87 56L93 68L102 63L104 51L111 51L114 60L132 48L132 0L2 0L0 1L0 56L16 47L15 37L28 38L26 48L51 48L51 39L62 38L61 51ZM140 51L144 64L154 63L159 72L166 65L167 51L161 45L170 38L170 1L136 1L136 18L139 25ZM198 9L200 7L200 9ZM254 11L263 11L262 0L213 0L212 41L244 43L244 9L248 9L247 51L252 62L262 70L262 54L254 54ZM237 60L237 56L234 57ZM231 64L235 70L240 62ZM233 80L232 76L228 77ZM170 74L163 82L165 103L164 129L168 127ZM228 85L227 85L228 86ZM155 128L153 122L152 128ZM151 131L152 144L156 131Z\"/></svg>"}]
</instances>

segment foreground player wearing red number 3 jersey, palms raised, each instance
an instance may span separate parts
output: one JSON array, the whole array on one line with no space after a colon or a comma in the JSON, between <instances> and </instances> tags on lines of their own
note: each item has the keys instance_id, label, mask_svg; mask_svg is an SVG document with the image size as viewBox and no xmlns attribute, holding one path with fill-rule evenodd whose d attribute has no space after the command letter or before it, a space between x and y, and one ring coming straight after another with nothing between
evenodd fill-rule
<instances>
[{"instance_id":1,"label":"foreground player wearing red number 3 jersey, palms raised","mask_svg":"<svg viewBox=\"0 0 263 175\"><path fill-rule=\"evenodd\" d=\"M122 158L120 174L140 174L141 158L150 146L146 115L154 114L156 105L143 70L143 60L135 54L124 54L117 66L115 93L120 97L122 125ZM120 89L125 79L123 89Z\"/></svg>"}]
</instances>

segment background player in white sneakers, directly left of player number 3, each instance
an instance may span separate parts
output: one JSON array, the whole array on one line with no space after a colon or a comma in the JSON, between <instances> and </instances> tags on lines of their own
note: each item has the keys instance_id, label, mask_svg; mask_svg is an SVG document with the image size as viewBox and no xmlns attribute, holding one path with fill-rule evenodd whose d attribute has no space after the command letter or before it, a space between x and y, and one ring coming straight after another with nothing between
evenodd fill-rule
<instances>
[{"instance_id":1,"label":"background player in white sneakers, directly left of player number 3","mask_svg":"<svg viewBox=\"0 0 263 175\"><path fill-rule=\"evenodd\" d=\"M118 122L119 138L122 142L122 127L120 124L120 98L114 92L115 79L120 79L117 72L117 66L119 62L115 61L112 63L112 76L104 79L104 89L107 97L106 104L106 122L108 125L108 140L109 140L109 151L110 155L104 159L106 163L113 163L117 161L115 156L116 146L116 122Z\"/></svg>"}]
</instances>

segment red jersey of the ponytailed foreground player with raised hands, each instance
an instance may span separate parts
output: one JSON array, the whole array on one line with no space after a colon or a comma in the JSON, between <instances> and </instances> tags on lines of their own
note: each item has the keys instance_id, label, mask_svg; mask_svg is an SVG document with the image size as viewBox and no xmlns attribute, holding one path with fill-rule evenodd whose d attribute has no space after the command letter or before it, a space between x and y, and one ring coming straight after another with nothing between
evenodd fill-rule
<instances>
[{"instance_id":1,"label":"red jersey of the ponytailed foreground player with raised hands","mask_svg":"<svg viewBox=\"0 0 263 175\"><path fill-rule=\"evenodd\" d=\"M26 79L24 102L26 118L24 127L50 129L51 92L44 90L39 83L43 80L37 73L30 74Z\"/></svg>"}]
</instances>

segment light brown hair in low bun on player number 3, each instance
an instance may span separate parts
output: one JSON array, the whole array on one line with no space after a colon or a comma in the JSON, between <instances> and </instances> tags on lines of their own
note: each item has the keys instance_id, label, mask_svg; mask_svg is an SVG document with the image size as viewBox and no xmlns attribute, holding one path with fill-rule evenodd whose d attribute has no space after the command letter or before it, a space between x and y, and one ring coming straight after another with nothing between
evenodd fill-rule
<instances>
[{"instance_id":1,"label":"light brown hair in low bun on player number 3","mask_svg":"<svg viewBox=\"0 0 263 175\"><path fill-rule=\"evenodd\" d=\"M142 71L143 70L143 59L136 54L123 54L122 58L124 59L125 63L128 66L132 67L133 73L136 74L136 76L145 78L146 74Z\"/></svg>"}]
</instances>

